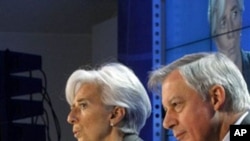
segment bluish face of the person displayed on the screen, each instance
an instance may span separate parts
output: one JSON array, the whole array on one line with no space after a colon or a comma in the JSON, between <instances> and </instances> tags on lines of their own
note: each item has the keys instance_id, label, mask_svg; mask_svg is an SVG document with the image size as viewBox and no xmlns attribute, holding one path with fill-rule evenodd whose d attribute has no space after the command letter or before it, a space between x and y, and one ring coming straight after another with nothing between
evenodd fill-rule
<instances>
[{"instance_id":1,"label":"bluish face of the person displayed on the screen","mask_svg":"<svg viewBox=\"0 0 250 141\"><path fill-rule=\"evenodd\" d=\"M222 6L218 6L221 8ZM242 25L242 13L237 0L225 0L225 8L222 15L217 10L216 37L217 48L220 52L231 52L240 48L240 34Z\"/></svg>"}]
</instances>

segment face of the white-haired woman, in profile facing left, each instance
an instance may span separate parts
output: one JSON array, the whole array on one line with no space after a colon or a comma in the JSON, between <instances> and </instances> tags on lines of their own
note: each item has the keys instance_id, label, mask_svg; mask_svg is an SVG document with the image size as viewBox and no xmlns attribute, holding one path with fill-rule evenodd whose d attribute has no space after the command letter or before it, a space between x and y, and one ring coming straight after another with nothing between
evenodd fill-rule
<instances>
[{"instance_id":1,"label":"face of the white-haired woman, in profile facing left","mask_svg":"<svg viewBox=\"0 0 250 141\"><path fill-rule=\"evenodd\" d=\"M83 84L75 95L68 122L78 141L101 141L111 131L111 110L100 97L101 89L94 84Z\"/></svg>"}]
</instances>

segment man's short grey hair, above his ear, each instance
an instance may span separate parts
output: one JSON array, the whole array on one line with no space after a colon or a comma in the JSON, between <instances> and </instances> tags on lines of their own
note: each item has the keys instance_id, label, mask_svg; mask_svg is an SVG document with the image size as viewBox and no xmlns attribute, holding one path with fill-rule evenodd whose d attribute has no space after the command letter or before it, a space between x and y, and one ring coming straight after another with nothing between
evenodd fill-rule
<instances>
[{"instance_id":1,"label":"man's short grey hair, above his ear","mask_svg":"<svg viewBox=\"0 0 250 141\"><path fill-rule=\"evenodd\" d=\"M239 112L250 108L250 96L246 82L236 65L222 53L196 53L152 71L148 86L153 89L162 85L173 71L179 70L186 83L196 90L204 100L209 97L209 89L221 85L226 99L223 111Z\"/></svg>"}]
</instances>

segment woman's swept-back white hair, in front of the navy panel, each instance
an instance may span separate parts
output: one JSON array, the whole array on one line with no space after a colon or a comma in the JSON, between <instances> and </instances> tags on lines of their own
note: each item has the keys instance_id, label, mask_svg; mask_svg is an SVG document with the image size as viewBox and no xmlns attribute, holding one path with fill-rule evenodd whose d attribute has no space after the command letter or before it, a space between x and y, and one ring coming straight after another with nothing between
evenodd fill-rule
<instances>
[{"instance_id":1,"label":"woman's swept-back white hair, in front of the navy panel","mask_svg":"<svg viewBox=\"0 0 250 141\"><path fill-rule=\"evenodd\" d=\"M101 87L100 96L105 105L126 109L125 117L118 125L122 132L139 134L152 107L146 89L131 69L121 63L109 63L98 69L76 70L66 84L66 99L70 105L84 83Z\"/></svg>"}]
</instances>

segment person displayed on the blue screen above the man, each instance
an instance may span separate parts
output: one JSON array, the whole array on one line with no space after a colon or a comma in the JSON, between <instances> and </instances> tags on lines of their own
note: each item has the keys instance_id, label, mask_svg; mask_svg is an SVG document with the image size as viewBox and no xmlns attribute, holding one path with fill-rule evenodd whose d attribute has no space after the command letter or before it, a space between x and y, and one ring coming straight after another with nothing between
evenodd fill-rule
<instances>
[{"instance_id":1,"label":"person displayed on the blue screen above the man","mask_svg":"<svg viewBox=\"0 0 250 141\"><path fill-rule=\"evenodd\" d=\"M241 48L244 0L209 0L208 19L219 52L242 72L250 90L250 52Z\"/></svg>"}]
</instances>

